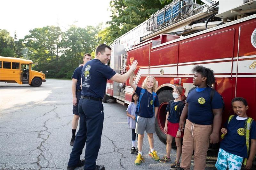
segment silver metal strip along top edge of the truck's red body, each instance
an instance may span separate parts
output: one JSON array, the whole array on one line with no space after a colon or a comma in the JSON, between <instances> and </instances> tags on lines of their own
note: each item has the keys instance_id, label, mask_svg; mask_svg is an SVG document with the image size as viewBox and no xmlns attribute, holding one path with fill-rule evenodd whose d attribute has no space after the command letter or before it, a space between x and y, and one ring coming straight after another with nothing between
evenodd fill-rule
<instances>
[{"instance_id":1,"label":"silver metal strip along top edge of the truck's red body","mask_svg":"<svg viewBox=\"0 0 256 170\"><path fill-rule=\"evenodd\" d=\"M250 19L253 19L253 18L256 18L256 14L253 14L253 15L250 15L248 17L241 18L241 19L237 19L235 21L231 21L229 23L226 23L226 24L223 24L223 25L219 25L219 26L216 26L216 27L204 30L204 31L196 32L196 33L188 35L188 36L180 37L179 39L174 39L172 41L169 41L169 42L166 42L166 43L154 46L154 47L152 47L152 49L158 48L160 46L164 46L164 45L167 45L167 44L171 44L171 43L183 40L183 39L188 39L188 38L191 38L191 37L195 37L195 36L200 35L200 34L211 32L211 31L214 31L214 30L218 30L220 28L224 28L224 27L227 27L227 26L230 26L230 25L234 25L234 24L237 24L237 23L240 23L240 22L244 22L244 21L247 21L247 20L250 20Z\"/></svg>"}]
</instances>

